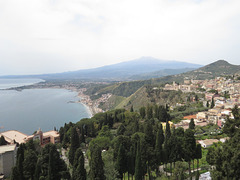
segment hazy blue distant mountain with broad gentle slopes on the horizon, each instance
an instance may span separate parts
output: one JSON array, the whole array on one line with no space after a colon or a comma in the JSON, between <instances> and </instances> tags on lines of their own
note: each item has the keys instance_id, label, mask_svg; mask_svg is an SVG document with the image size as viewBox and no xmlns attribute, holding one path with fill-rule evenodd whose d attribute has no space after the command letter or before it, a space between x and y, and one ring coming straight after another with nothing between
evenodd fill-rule
<instances>
[{"instance_id":1,"label":"hazy blue distant mountain with broad gentle slopes on the horizon","mask_svg":"<svg viewBox=\"0 0 240 180\"><path fill-rule=\"evenodd\" d=\"M42 79L84 79L84 80L134 80L134 76L152 73L153 75L148 74L148 78L161 77L162 75L171 75L175 72L176 69L185 69L192 68L196 69L201 67L198 64L178 62L178 61L164 61L152 57L142 57L132 61L121 62L118 64L107 65L94 69L78 70L72 72L64 72L57 74L43 74L43 75L33 75L33 76L24 76L24 77L36 77ZM160 75L157 75L157 71ZM144 76L144 75L143 75ZM16 77L16 76L11 76ZM23 76L17 76L23 77ZM141 76L139 78L141 79Z\"/></svg>"}]
</instances>

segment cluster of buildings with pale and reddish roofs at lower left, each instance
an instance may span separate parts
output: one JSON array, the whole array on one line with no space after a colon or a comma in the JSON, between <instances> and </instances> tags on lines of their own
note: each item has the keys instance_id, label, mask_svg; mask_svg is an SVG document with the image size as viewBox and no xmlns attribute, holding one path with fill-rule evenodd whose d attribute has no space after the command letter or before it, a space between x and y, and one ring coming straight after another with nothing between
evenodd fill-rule
<instances>
[{"instance_id":1,"label":"cluster of buildings with pale and reddish roofs at lower left","mask_svg":"<svg viewBox=\"0 0 240 180\"><path fill-rule=\"evenodd\" d=\"M12 167L16 164L17 144L26 143L31 139L38 140L41 146L60 142L57 131L42 132L41 129L30 136L16 130L1 132L1 136L7 141L7 145L0 146L0 179L9 177Z\"/></svg>"}]
</instances>

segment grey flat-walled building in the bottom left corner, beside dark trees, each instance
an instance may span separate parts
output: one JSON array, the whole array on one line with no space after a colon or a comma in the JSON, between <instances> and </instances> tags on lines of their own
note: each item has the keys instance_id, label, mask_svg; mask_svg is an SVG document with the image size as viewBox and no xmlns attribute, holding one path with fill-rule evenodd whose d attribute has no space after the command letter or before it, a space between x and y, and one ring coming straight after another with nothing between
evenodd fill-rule
<instances>
[{"instance_id":1,"label":"grey flat-walled building in the bottom left corner, beside dark trees","mask_svg":"<svg viewBox=\"0 0 240 180\"><path fill-rule=\"evenodd\" d=\"M16 144L0 146L0 174L9 177L16 164Z\"/></svg>"}]
</instances>

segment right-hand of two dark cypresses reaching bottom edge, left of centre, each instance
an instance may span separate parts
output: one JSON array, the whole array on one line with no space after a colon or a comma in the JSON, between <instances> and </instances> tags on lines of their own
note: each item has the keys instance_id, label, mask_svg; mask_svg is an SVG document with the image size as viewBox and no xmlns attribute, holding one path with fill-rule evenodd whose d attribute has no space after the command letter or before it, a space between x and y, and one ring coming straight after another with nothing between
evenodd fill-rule
<instances>
[{"instance_id":1,"label":"right-hand of two dark cypresses reaching bottom edge, left of centre","mask_svg":"<svg viewBox=\"0 0 240 180\"><path fill-rule=\"evenodd\" d=\"M104 163L102 160L101 149L98 145L94 145L90 149L91 160L90 160L90 172L89 177L91 180L105 180L104 175Z\"/></svg>"}]
</instances>

